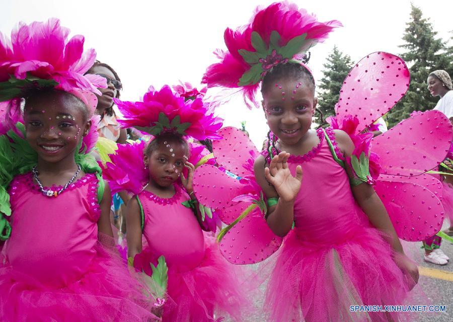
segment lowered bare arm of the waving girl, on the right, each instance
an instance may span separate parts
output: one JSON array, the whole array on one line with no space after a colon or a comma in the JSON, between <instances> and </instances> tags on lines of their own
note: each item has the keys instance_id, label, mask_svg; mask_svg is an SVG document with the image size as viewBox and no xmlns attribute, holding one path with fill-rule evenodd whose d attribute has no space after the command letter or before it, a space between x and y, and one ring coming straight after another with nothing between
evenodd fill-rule
<instances>
[{"instance_id":1,"label":"lowered bare arm of the waving girl, on the right","mask_svg":"<svg viewBox=\"0 0 453 322\"><path fill-rule=\"evenodd\" d=\"M344 153L344 156L350 157L352 151L354 150L354 144L352 143L349 135L341 130L335 130L335 138L338 143L338 147ZM345 166L349 178L352 178L352 169L350 169L346 163ZM364 182L358 186L351 186L351 190L355 200L363 209L363 212L368 216L371 224L384 233L387 242L396 253L404 255L400 238L393 227L392 221L390 220L384 204L374 191L373 187ZM418 281L418 268L412 261L406 259L404 256L403 258L397 259L397 264L402 270L408 272L414 278L415 282Z\"/></svg>"}]
</instances>

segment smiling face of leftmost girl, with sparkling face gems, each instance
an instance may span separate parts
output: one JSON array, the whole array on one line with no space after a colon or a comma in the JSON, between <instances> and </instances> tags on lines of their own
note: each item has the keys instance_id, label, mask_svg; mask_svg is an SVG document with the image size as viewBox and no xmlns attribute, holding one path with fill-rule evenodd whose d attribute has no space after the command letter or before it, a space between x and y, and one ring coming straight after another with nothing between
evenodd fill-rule
<instances>
[{"instance_id":1,"label":"smiling face of leftmost girl, with sparkling face gems","mask_svg":"<svg viewBox=\"0 0 453 322\"><path fill-rule=\"evenodd\" d=\"M87 118L85 104L69 93L50 91L34 95L25 103L27 141L45 162L73 158L79 142L90 129L91 121Z\"/></svg>"}]
</instances>

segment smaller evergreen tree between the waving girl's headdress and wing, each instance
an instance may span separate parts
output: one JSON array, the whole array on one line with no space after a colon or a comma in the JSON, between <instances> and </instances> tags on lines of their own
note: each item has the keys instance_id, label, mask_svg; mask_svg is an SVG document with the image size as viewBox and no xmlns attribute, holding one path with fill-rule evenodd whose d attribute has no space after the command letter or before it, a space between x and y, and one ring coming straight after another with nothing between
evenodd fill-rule
<instances>
[{"instance_id":1,"label":"smaller evergreen tree between the waving girl's headdress and wing","mask_svg":"<svg viewBox=\"0 0 453 322\"><path fill-rule=\"evenodd\" d=\"M335 115L335 104L340 97L340 89L344 79L351 70L351 57L343 54L337 46L327 57L323 65L323 78L319 85L318 108L323 112L324 118ZM317 114L319 119L319 114Z\"/></svg>"}]
</instances>

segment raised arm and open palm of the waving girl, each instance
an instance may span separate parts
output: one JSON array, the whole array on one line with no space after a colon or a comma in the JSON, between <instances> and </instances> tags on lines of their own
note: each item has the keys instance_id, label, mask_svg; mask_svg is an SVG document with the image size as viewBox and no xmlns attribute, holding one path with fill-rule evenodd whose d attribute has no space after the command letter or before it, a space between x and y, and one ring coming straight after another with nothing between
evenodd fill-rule
<instances>
[{"instance_id":1,"label":"raised arm and open palm of the waving girl","mask_svg":"<svg viewBox=\"0 0 453 322\"><path fill-rule=\"evenodd\" d=\"M265 168L265 158L260 155L255 160L255 179L263 189L266 198L279 197L278 203L267 209L267 224L280 237L291 230L294 221L294 199L300 190L302 168L297 166L293 177L288 169L289 153L276 155ZM269 185L271 184L271 185Z\"/></svg>"}]
</instances>

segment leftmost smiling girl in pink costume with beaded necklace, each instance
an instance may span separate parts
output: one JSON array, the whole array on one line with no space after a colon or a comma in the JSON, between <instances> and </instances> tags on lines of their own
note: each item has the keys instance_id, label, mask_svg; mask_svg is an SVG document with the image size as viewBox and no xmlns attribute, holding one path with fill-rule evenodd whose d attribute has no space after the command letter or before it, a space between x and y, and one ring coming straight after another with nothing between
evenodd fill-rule
<instances>
[{"instance_id":1,"label":"leftmost smiling girl in pink costume with beaded necklace","mask_svg":"<svg viewBox=\"0 0 453 322\"><path fill-rule=\"evenodd\" d=\"M2 236L9 237L0 262L0 319L159 320L149 291L112 247L110 189L88 154L97 139L93 93L106 82L84 76L95 52L83 53L84 37L68 34L50 19L21 24L12 45L0 35L0 100L9 101L3 120L11 128L0 137L2 160L10 160L0 176L8 187L8 194L0 190L8 218ZM25 127L16 124L21 102Z\"/></svg>"}]
</instances>

